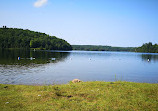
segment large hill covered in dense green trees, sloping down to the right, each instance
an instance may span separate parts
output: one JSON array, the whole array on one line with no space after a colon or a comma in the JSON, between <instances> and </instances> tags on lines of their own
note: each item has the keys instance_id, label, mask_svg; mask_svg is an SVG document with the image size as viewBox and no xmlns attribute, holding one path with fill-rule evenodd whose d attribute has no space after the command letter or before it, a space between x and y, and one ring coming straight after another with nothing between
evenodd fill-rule
<instances>
[{"instance_id":1,"label":"large hill covered in dense green trees, sloping down to the right","mask_svg":"<svg viewBox=\"0 0 158 111\"><path fill-rule=\"evenodd\" d=\"M71 45L55 36L17 28L0 28L0 48L40 48L46 50L72 50Z\"/></svg>"}]
</instances>

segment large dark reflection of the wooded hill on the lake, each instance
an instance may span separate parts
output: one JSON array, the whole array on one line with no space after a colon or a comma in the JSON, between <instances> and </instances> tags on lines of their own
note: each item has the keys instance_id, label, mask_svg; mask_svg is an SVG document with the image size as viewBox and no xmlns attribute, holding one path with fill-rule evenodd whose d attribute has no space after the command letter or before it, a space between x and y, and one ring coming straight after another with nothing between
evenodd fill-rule
<instances>
[{"instance_id":1,"label":"large dark reflection of the wooded hill on the lake","mask_svg":"<svg viewBox=\"0 0 158 111\"><path fill-rule=\"evenodd\" d=\"M69 52L47 52L47 51L32 51L32 50L0 50L0 64L2 65L28 65L28 64L46 64L57 63L63 61ZM18 60L20 57L20 60ZM35 58L35 59L32 59ZM51 58L56 58L51 60Z\"/></svg>"}]
</instances>

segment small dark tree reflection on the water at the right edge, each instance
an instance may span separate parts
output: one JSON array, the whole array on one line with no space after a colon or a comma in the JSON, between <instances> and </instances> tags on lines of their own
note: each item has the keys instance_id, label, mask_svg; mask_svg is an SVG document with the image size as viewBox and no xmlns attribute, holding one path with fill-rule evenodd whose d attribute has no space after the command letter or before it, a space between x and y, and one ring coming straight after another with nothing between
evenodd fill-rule
<instances>
[{"instance_id":1,"label":"small dark tree reflection on the water at the right edge","mask_svg":"<svg viewBox=\"0 0 158 111\"><path fill-rule=\"evenodd\" d=\"M158 61L158 55L142 54L141 57L143 61L147 61L147 62L148 62L148 59L150 61Z\"/></svg>"}]
</instances>

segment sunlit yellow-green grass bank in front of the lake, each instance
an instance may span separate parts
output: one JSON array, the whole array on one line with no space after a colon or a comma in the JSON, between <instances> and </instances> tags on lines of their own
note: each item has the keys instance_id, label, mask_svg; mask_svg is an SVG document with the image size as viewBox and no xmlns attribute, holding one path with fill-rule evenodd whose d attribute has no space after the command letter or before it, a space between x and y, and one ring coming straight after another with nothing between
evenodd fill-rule
<instances>
[{"instance_id":1,"label":"sunlit yellow-green grass bank in front of the lake","mask_svg":"<svg viewBox=\"0 0 158 111\"><path fill-rule=\"evenodd\" d=\"M0 84L1 111L158 110L158 84L81 82L27 86Z\"/></svg>"}]
</instances>

